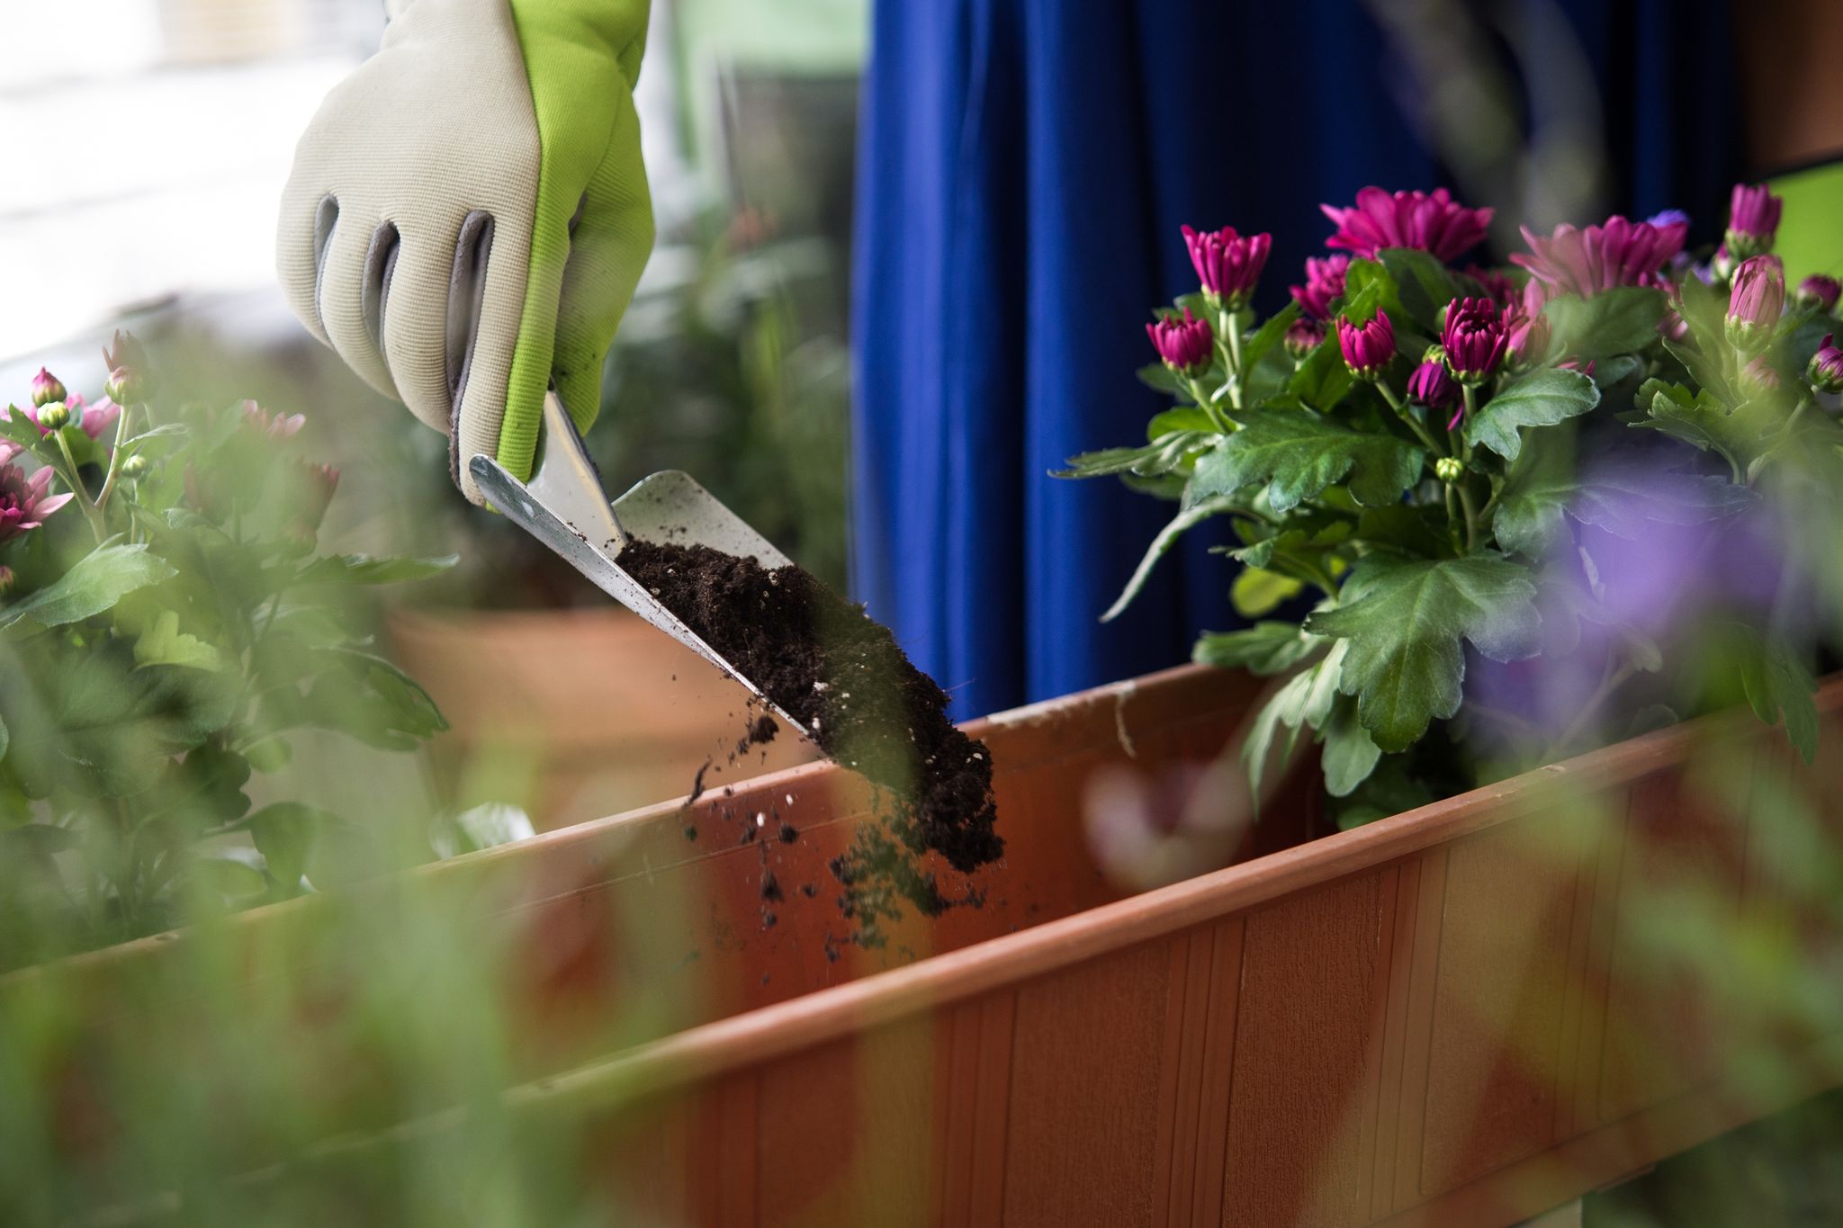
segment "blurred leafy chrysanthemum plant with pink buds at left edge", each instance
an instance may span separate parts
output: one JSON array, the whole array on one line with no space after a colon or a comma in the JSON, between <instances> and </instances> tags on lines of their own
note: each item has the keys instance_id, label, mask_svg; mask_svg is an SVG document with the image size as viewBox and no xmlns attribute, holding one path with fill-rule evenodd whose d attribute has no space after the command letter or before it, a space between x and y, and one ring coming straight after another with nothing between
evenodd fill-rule
<instances>
[{"instance_id":1,"label":"blurred leafy chrysanthemum plant with pink buds at left edge","mask_svg":"<svg viewBox=\"0 0 1843 1228\"><path fill-rule=\"evenodd\" d=\"M300 416L162 407L131 337L105 359L103 400L41 370L0 414L0 968L304 889L343 823L252 810L251 773L302 729L444 727L352 597L452 560L319 554L339 475Z\"/></svg>"}]
</instances>

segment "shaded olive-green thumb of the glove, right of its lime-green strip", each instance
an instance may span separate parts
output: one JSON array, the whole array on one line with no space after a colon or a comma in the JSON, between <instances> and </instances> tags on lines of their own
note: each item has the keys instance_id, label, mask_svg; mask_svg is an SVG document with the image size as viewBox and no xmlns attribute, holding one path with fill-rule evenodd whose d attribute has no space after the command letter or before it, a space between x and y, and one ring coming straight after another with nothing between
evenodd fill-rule
<instances>
[{"instance_id":1,"label":"shaded olive-green thumb of the glove, right of its lime-green strip","mask_svg":"<svg viewBox=\"0 0 1843 1228\"><path fill-rule=\"evenodd\" d=\"M608 346L652 252L652 195L638 153L640 116L623 94L608 155L590 179L569 237L557 309L551 366L557 390L581 429L588 429L601 409Z\"/></svg>"}]
</instances>

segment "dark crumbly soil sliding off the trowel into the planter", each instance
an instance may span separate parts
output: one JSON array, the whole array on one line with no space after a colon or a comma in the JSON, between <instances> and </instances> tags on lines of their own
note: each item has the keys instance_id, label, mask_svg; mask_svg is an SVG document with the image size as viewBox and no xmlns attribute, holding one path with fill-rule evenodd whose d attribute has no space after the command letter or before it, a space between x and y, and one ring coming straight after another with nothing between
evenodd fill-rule
<instances>
[{"instance_id":1,"label":"dark crumbly soil sliding off the trowel into the planter","mask_svg":"<svg viewBox=\"0 0 1843 1228\"><path fill-rule=\"evenodd\" d=\"M619 562L813 731L829 759L879 786L883 823L859 827L831 863L855 941L881 946L883 922L905 900L927 915L979 904L971 893L944 895L923 856L938 852L971 873L1004 851L993 830L992 759L947 720L947 694L909 663L888 628L800 567L770 571L702 545L638 539ZM745 744L772 736L772 718L761 716Z\"/></svg>"}]
</instances>

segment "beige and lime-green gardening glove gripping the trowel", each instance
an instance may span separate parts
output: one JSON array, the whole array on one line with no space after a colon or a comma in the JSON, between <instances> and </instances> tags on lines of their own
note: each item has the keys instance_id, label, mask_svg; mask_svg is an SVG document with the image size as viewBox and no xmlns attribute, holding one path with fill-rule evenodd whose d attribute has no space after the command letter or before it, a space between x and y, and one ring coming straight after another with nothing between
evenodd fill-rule
<instances>
[{"instance_id":1,"label":"beige and lime-green gardening glove gripping the trowel","mask_svg":"<svg viewBox=\"0 0 1843 1228\"><path fill-rule=\"evenodd\" d=\"M652 250L634 81L649 0L387 0L376 55L295 149L289 307L380 392L531 473L551 379L577 427Z\"/></svg>"}]
</instances>

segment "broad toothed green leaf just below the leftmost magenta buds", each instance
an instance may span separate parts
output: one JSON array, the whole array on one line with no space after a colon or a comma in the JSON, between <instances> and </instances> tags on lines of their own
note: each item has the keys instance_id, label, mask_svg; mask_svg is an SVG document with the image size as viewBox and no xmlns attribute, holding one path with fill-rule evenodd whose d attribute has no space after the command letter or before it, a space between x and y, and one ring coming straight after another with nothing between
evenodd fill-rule
<instances>
[{"instance_id":1,"label":"broad toothed green leaf just below the leftmost magenta buds","mask_svg":"<svg viewBox=\"0 0 1843 1228\"><path fill-rule=\"evenodd\" d=\"M1358 503L1384 506L1419 481L1426 462L1417 444L1353 431L1307 409L1257 409L1240 422L1240 431L1198 458L1185 499L1266 484L1274 510L1288 512L1344 482Z\"/></svg>"}]
</instances>

